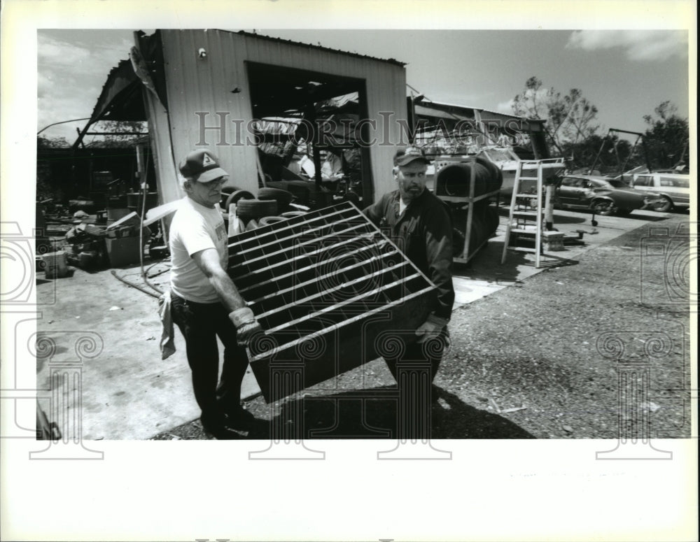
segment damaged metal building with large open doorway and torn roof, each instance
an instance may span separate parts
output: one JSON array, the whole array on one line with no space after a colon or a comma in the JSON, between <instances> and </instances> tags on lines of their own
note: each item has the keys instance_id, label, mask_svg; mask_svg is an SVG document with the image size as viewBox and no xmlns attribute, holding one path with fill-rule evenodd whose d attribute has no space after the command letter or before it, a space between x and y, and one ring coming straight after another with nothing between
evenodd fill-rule
<instances>
[{"instance_id":1,"label":"damaged metal building with large open doorway and torn roof","mask_svg":"<svg viewBox=\"0 0 700 542\"><path fill-rule=\"evenodd\" d=\"M157 30L136 32L134 41L83 134L99 120L148 120L160 204L183 196L177 164L198 145L216 152L229 185L254 193L265 174L280 180L285 170L266 160L260 145L270 136L266 123L289 120L297 125L288 141L316 143L316 171L324 146L354 148L363 201L393 190L393 143L407 143L401 62L245 31ZM356 100L342 100L348 94ZM339 111L347 122L322 124Z\"/></svg>"}]
</instances>

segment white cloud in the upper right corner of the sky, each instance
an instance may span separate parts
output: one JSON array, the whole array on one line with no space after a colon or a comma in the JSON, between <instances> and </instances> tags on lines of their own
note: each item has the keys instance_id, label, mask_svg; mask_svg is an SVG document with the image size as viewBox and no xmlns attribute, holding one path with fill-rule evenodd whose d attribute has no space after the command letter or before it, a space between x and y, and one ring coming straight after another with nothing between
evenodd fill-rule
<instances>
[{"instance_id":1,"label":"white cloud in the upper right corner of the sky","mask_svg":"<svg viewBox=\"0 0 700 542\"><path fill-rule=\"evenodd\" d=\"M566 48L624 48L631 60L666 60L687 56L688 34L682 30L577 30L569 36Z\"/></svg>"}]
</instances>

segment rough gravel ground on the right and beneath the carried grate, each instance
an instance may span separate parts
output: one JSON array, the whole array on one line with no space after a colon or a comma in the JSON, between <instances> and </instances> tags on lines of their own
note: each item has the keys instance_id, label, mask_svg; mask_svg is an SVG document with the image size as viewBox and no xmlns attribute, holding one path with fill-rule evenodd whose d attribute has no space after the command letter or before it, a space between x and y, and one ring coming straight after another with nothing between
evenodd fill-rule
<instances>
[{"instance_id":1,"label":"rough gravel ground on the right and beneath the carried grate","mask_svg":"<svg viewBox=\"0 0 700 542\"><path fill-rule=\"evenodd\" d=\"M433 438L617 438L617 359L606 348L618 343L622 362L648 369L648 395L633 410L649 416L652 438L689 437L689 310L668 294L668 285L671 296L685 289L686 300L696 291L689 290L687 237L683 245L673 235L687 223L687 215L673 215L645 224L456 309L451 348L435 378ZM647 248L650 228L659 227L671 236ZM650 357L644 349L654 345ZM240 437L397 438L395 400L355 397L394 387L378 359L303 397L269 405L256 397L246 408L259 427ZM212 437L198 420L154 437L174 438Z\"/></svg>"}]
</instances>

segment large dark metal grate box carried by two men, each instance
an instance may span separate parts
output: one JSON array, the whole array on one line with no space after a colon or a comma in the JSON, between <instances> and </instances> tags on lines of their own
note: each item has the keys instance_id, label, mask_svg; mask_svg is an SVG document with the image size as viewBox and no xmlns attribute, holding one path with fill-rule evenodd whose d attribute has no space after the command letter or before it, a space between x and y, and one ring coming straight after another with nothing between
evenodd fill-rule
<instances>
[{"instance_id":1,"label":"large dark metal grate box carried by two men","mask_svg":"<svg viewBox=\"0 0 700 542\"><path fill-rule=\"evenodd\" d=\"M435 299L350 202L230 237L228 273L265 329L248 356L268 402L390 352Z\"/></svg>"}]
</instances>

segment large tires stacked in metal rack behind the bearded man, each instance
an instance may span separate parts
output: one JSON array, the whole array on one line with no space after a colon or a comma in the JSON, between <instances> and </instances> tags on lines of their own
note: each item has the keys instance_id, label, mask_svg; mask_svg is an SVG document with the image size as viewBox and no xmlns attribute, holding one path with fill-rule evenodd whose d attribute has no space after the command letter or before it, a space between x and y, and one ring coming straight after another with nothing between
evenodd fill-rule
<instances>
[{"instance_id":1,"label":"large tires stacked in metal rack behind the bearded man","mask_svg":"<svg viewBox=\"0 0 700 542\"><path fill-rule=\"evenodd\" d=\"M451 198L464 198L464 204L453 204L453 247L454 256L462 257L467 233L470 185L474 168L474 197L496 192L503 184L503 173L489 159L476 157L474 162L456 162L442 167L435 179L435 194ZM469 255L479 249L498 228L498 209L490 204L489 198L475 201L469 235Z\"/></svg>"}]
</instances>

